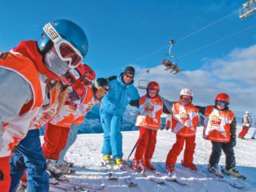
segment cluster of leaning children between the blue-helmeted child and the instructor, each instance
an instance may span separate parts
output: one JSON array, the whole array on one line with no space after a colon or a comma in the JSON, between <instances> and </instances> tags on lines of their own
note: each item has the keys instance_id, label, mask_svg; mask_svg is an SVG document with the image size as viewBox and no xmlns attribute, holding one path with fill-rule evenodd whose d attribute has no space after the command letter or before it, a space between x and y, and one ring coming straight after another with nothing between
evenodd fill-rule
<instances>
[{"instance_id":1,"label":"cluster of leaning children between the blue-helmeted child and the instructor","mask_svg":"<svg viewBox=\"0 0 256 192\"><path fill-rule=\"evenodd\" d=\"M92 83L93 80L94 71L86 64L81 64L77 69L68 71L62 81L47 83L48 101L40 108L26 137L13 150L9 191L17 190L22 175L23 179L26 178L25 182L38 183L45 191L49 186L46 169L59 179L63 177L63 158L76 140L79 126L86 113L95 104L100 104L101 98L109 90L107 79L97 78ZM41 146L37 130L42 126L46 128Z\"/></svg>"}]
</instances>

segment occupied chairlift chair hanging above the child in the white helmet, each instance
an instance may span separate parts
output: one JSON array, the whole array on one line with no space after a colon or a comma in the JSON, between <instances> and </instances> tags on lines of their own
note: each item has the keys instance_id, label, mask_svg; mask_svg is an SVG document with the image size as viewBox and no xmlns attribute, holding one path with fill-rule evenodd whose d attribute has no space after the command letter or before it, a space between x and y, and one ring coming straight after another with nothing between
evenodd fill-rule
<instances>
[{"instance_id":1,"label":"occupied chairlift chair hanging above the child in the white helmet","mask_svg":"<svg viewBox=\"0 0 256 192\"><path fill-rule=\"evenodd\" d=\"M170 40L170 47L168 54L164 55L164 59L162 60L162 65L165 66L165 70L170 70L170 73L176 74L182 71L178 66L178 58L175 58L171 53L171 49L175 44L175 40Z\"/></svg>"}]
</instances>

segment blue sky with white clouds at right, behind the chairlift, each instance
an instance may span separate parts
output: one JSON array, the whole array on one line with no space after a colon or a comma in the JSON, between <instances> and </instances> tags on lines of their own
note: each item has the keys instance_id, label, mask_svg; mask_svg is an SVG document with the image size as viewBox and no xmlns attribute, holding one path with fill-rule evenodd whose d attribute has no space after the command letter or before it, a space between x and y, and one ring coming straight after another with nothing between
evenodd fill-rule
<instances>
[{"instance_id":1,"label":"blue sky with white clouds at right, behind the chairlift","mask_svg":"<svg viewBox=\"0 0 256 192\"><path fill-rule=\"evenodd\" d=\"M37 40L43 24L65 18L84 28L89 43L84 62L92 66L97 77L119 74L125 66L134 65L136 81L150 69L154 73L149 73L149 80L159 81L162 94L170 100L177 100L179 90L189 87L194 90L194 102L211 104L216 93L223 91L234 98L231 107L236 111L256 114L256 79L252 72L256 63L256 27L186 55L256 24L255 16L241 21L239 13L234 13L243 2L246 1L5 1L0 12L0 50L9 50L21 40ZM184 72L173 76L160 66L169 40L180 40L230 13L234 14L175 44L173 55L186 55L179 59ZM145 57L154 51L157 52ZM246 71L241 69L243 65ZM203 79L206 80L201 82Z\"/></svg>"}]
</instances>

